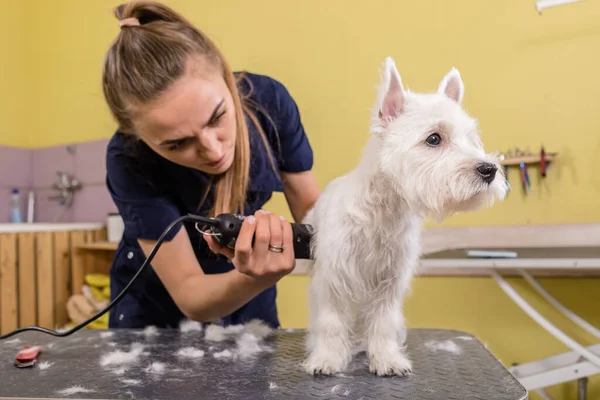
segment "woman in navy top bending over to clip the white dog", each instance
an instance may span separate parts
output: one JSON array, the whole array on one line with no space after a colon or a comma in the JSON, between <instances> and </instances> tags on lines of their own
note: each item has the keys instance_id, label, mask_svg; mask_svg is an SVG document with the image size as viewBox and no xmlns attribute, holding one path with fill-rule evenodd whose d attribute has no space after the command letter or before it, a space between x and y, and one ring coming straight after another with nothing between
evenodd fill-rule
<instances>
[{"instance_id":1,"label":"woman in navy top bending over to clip the white dog","mask_svg":"<svg viewBox=\"0 0 600 400\"><path fill-rule=\"evenodd\" d=\"M115 14L121 28L103 88L119 127L106 165L125 231L111 295L181 215L250 217L235 252L193 223L172 230L152 268L111 311L109 326L177 327L187 317L278 327L275 285L295 265L291 226L260 210L283 191L299 221L319 194L294 100L272 78L232 73L209 38L165 5L128 3Z\"/></svg>"}]
</instances>

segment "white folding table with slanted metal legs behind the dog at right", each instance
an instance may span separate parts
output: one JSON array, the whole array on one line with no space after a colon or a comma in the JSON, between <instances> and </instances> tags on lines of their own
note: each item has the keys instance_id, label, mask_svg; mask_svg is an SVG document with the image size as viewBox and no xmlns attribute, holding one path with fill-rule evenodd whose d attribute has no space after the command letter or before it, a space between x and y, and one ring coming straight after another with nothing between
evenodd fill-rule
<instances>
[{"instance_id":1,"label":"white folding table with slanted metal legs behind the dog at right","mask_svg":"<svg viewBox=\"0 0 600 400\"><path fill-rule=\"evenodd\" d=\"M516 252L516 258L470 257L471 250ZM548 333L571 349L570 352L555 355L511 367L509 370L529 391L536 391L542 398L551 397L545 387L563 382L578 380L579 399L587 398L587 377L600 373L600 343L584 347L566 335L558 327L542 316L502 277L503 274L516 274L548 303L555 307L571 322L589 334L600 339L600 330L583 320L572 310L561 304L548 293L533 273L540 275L598 276L600 272L600 246L594 247L512 247L512 248L459 248L424 255L419 265L421 271L436 271L455 274L457 271L471 271L474 274L490 275L500 288L529 317Z\"/></svg>"}]
</instances>

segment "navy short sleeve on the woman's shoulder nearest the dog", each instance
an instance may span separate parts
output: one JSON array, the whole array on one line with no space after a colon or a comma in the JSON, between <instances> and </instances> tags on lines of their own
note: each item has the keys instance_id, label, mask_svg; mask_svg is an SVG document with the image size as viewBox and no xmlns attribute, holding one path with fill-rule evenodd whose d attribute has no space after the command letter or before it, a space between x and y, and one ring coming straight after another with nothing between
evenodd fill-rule
<instances>
[{"instance_id":1,"label":"navy short sleeve on the woman's shoulder nearest the dog","mask_svg":"<svg viewBox=\"0 0 600 400\"><path fill-rule=\"evenodd\" d=\"M308 171L313 166L313 150L304 131L298 106L282 83L274 79L271 82L275 90L275 125L281 148L279 168L283 172Z\"/></svg>"}]
</instances>

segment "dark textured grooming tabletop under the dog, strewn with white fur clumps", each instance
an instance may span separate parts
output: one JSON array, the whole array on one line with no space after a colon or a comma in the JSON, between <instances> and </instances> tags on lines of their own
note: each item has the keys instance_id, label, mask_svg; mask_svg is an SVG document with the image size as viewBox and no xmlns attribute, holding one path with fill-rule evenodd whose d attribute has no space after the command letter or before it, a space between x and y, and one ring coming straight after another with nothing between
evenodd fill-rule
<instances>
[{"instance_id":1,"label":"dark textured grooming tabletop under the dog, strewn with white fur clumps","mask_svg":"<svg viewBox=\"0 0 600 400\"><path fill-rule=\"evenodd\" d=\"M409 329L407 346L413 361L408 377L377 377L368 372L364 353L339 376L310 376L300 367L305 331L278 330L263 340L270 348L255 358L232 360L213 354L235 348L234 342L207 342L203 332L159 330L82 330L56 338L37 332L15 336L19 343L0 342L0 398L2 399L411 399L411 400L521 400L527 391L502 364L471 335L452 330ZM12 338L11 338L12 339ZM9 339L10 340L10 339ZM460 351L431 347L450 341ZM138 363L120 371L100 365L101 357L116 349L128 351L134 342L144 352ZM36 366L18 369L12 362L23 345L42 346ZM175 355L184 347L205 351L196 360ZM450 350L452 350L450 348ZM146 353L147 352L147 353ZM40 362L52 363L41 370ZM151 362L166 364L164 373L149 374ZM58 393L80 385L93 390L71 396Z\"/></svg>"}]
</instances>

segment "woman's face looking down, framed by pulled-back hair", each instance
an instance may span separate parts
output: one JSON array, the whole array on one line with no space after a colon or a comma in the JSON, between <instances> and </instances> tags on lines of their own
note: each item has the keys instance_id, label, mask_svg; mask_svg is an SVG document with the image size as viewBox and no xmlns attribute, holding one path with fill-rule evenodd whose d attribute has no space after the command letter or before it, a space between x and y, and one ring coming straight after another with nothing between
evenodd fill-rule
<instances>
[{"instance_id":1,"label":"woman's face looking down, framed by pulled-back hair","mask_svg":"<svg viewBox=\"0 0 600 400\"><path fill-rule=\"evenodd\" d=\"M233 163L235 109L219 73L187 73L140 111L136 134L162 157L208 174Z\"/></svg>"}]
</instances>

